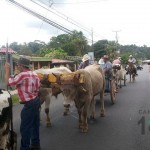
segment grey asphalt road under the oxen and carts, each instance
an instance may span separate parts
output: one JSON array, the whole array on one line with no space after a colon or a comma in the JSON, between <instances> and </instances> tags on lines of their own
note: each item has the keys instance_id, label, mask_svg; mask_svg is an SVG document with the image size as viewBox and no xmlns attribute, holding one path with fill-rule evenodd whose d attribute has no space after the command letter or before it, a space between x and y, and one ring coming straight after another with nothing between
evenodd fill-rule
<instances>
[{"instance_id":1,"label":"grey asphalt road under the oxen and carts","mask_svg":"<svg viewBox=\"0 0 150 150\"><path fill-rule=\"evenodd\" d=\"M127 77L128 79L128 77ZM105 96L106 117L100 117L98 97L96 122L89 124L88 133L78 130L78 115L74 106L70 115L63 116L63 97L53 98L50 106L52 127L46 128L42 109L40 127L42 150L150 150L150 73L148 66L138 71L135 83L119 90L116 104ZM21 105L15 105L14 130L20 146Z\"/></svg>"}]
</instances>

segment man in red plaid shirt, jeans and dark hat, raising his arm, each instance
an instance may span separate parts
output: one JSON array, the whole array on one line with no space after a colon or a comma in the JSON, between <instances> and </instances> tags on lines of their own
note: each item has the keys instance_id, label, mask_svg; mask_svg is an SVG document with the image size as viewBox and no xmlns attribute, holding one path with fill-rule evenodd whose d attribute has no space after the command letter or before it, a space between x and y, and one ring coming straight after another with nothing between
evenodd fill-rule
<instances>
[{"instance_id":1,"label":"man in red plaid shirt, jeans and dark hat, raising his arm","mask_svg":"<svg viewBox=\"0 0 150 150\"><path fill-rule=\"evenodd\" d=\"M20 73L10 77L10 64L5 63L5 81L9 86L16 86L20 103L24 104L21 111L20 150L40 150L38 97L40 80L38 75L30 70L30 60L27 58L21 57L17 65Z\"/></svg>"}]
</instances>

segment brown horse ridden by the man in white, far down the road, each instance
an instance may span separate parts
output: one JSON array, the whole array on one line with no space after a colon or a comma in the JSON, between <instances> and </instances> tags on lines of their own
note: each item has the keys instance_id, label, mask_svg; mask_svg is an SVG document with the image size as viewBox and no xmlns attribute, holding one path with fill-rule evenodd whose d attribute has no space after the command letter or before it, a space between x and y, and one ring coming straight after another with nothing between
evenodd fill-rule
<instances>
[{"instance_id":1,"label":"brown horse ridden by the man in white, far down the road","mask_svg":"<svg viewBox=\"0 0 150 150\"><path fill-rule=\"evenodd\" d=\"M129 73L129 76L130 76L130 81L131 82L131 78L132 78L132 81L134 82L135 81L135 76L136 76L136 68L134 66L134 64L132 62L128 62L128 73Z\"/></svg>"}]
</instances>

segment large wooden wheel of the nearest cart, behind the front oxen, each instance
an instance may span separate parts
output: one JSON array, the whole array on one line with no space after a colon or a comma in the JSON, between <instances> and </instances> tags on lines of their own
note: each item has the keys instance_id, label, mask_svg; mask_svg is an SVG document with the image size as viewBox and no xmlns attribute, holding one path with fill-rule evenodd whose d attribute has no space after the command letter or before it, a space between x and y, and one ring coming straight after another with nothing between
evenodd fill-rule
<instances>
[{"instance_id":1,"label":"large wooden wheel of the nearest cart, behind the front oxen","mask_svg":"<svg viewBox=\"0 0 150 150\"><path fill-rule=\"evenodd\" d=\"M111 97L111 102L112 104L115 103L116 101L116 83L115 83L115 80L111 80L110 81L110 97Z\"/></svg>"}]
</instances>

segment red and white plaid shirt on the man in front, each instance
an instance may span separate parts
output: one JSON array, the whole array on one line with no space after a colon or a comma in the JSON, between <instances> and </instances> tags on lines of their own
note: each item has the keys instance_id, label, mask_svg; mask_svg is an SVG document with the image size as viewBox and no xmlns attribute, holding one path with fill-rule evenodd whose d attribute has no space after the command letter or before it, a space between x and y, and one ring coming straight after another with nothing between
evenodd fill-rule
<instances>
[{"instance_id":1,"label":"red and white plaid shirt on the man in front","mask_svg":"<svg viewBox=\"0 0 150 150\"><path fill-rule=\"evenodd\" d=\"M30 101L38 96L40 80L32 71L21 72L9 78L9 85L16 85L21 101Z\"/></svg>"}]
</instances>

